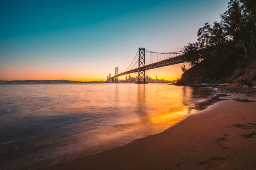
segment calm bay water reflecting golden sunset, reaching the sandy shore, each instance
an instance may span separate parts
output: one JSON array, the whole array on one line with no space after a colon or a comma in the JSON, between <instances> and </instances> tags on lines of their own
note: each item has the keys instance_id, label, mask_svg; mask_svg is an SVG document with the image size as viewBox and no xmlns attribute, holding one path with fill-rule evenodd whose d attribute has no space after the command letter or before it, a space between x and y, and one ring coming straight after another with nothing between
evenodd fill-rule
<instances>
[{"instance_id":1,"label":"calm bay water reflecting golden sunset, reaching the sandy shore","mask_svg":"<svg viewBox=\"0 0 256 170\"><path fill-rule=\"evenodd\" d=\"M0 169L38 168L160 133L211 93L167 84L0 84Z\"/></svg>"}]
</instances>

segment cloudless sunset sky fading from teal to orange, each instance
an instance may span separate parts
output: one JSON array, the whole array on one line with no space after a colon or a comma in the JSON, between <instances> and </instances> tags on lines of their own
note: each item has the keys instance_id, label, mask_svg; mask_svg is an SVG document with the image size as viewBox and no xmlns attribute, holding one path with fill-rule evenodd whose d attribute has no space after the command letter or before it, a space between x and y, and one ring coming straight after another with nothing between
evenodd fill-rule
<instances>
[{"instance_id":1,"label":"cloudless sunset sky fading from teal to orange","mask_svg":"<svg viewBox=\"0 0 256 170\"><path fill-rule=\"evenodd\" d=\"M1 0L0 80L105 80L115 67L125 70L138 47L170 52L195 42L228 2ZM181 65L146 75L175 80Z\"/></svg>"}]
</instances>

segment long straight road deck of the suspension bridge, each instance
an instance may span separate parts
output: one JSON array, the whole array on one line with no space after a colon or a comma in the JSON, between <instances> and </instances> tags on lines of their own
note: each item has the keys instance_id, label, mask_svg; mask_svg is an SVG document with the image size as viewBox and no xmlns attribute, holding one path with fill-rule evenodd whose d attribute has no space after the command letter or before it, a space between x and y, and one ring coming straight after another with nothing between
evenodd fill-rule
<instances>
[{"instance_id":1,"label":"long straight road deck of the suspension bridge","mask_svg":"<svg viewBox=\"0 0 256 170\"><path fill-rule=\"evenodd\" d=\"M149 65L144 65L142 67L138 67L138 68L135 68L135 69L132 69L132 70L129 70L129 71L121 72L118 75L114 75L113 77L110 77L108 80L111 80L115 77L119 77L121 75L126 75L126 74L130 74L130 73L133 73L133 72L138 72L139 70L150 70L150 69L154 69L154 68L158 68L158 67L164 67L164 66L167 66L167 65L179 64L179 63L182 63L182 62L186 62L184 60L183 54L178 55L176 57L168 58L166 60L162 60L162 61L159 61L159 62L154 62L154 63L149 64Z\"/></svg>"}]
</instances>

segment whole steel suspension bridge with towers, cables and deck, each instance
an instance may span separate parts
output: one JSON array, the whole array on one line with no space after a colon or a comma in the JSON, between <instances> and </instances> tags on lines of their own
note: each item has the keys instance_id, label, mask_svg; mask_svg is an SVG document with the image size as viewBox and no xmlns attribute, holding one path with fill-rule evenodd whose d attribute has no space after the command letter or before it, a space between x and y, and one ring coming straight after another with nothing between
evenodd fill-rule
<instances>
[{"instance_id":1,"label":"whole steel suspension bridge with towers, cables and deck","mask_svg":"<svg viewBox=\"0 0 256 170\"><path fill-rule=\"evenodd\" d=\"M138 57L137 60L136 57ZM138 81L136 83L147 83L146 70L182 62L186 62L184 60L184 51L154 52L146 50L145 48L139 48L128 68L121 72L118 67L115 67L115 72L112 74L113 76L111 77L111 74L109 74L106 83L118 83L119 76L133 72L138 72Z\"/></svg>"}]
</instances>

